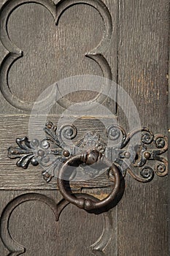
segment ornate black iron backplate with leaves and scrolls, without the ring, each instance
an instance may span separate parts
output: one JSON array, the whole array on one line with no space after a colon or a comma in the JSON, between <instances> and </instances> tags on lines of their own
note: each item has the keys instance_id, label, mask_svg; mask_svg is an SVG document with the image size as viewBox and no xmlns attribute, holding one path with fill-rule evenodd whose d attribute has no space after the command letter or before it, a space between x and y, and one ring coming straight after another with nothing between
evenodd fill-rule
<instances>
[{"instance_id":1,"label":"ornate black iron backplate with leaves and scrolls, without the ring","mask_svg":"<svg viewBox=\"0 0 170 256\"><path fill-rule=\"evenodd\" d=\"M57 129L52 122L48 122L45 126L46 138L32 141L26 137L18 138L16 140L18 147L10 147L8 157L18 159L17 166L24 169L29 164L41 165L42 175L47 182L55 176L55 171L59 170L64 162L77 154L85 153L87 149L96 149L105 155L119 168L123 177L129 173L137 181L147 182L151 181L155 174L167 175L167 159L162 156L168 149L166 136L153 135L146 127L136 129L127 135L125 130L117 125L108 127L106 132L109 139L108 145L100 135L91 131L74 146L68 146L64 139L75 138L77 128L66 124L61 129ZM138 138L140 135L140 140L136 140L137 135ZM154 167L150 165L153 160ZM98 175L99 170L88 172L85 170L85 163L81 166L91 178ZM76 176L76 173L72 176Z\"/></svg>"}]
</instances>

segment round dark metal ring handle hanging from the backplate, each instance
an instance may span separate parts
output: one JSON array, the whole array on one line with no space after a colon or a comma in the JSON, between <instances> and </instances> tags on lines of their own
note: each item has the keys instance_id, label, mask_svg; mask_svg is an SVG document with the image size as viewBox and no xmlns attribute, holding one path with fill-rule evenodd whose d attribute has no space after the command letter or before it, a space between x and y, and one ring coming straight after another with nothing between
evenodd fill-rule
<instances>
[{"instance_id":1,"label":"round dark metal ring handle hanging from the backplate","mask_svg":"<svg viewBox=\"0 0 170 256\"><path fill-rule=\"evenodd\" d=\"M84 198L83 196L80 198L77 198L74 196L74 194L70 194L65 187L64 184L64 173L66 172L66 169L69 165L72 165L74 162L85 162L87 165L91 165L94 162L103 162L105 165L108 167L111 167L111 171L113 176L115 177L115 186L112 189L112 192L103 200L99 202L94 202L93 200L89 198ZM70 176L72 173L70 173ZM109 203L112 203L112 201L115 199L117 193L119 192L120 189L120 174L119 170L117 167L112 164L112 162L109 161L106 157L104 157L101 153L99 153L96 150L93 151L87 151L83 155L78 155L75 157L71 157L68 159L64 165L61 167L61 170L59 170L59 176L58 176L58 188L61 192L61 195L68 200L70 203L73 203L75 206L85 209L87 211L94 210L94 209L99 209L99 208L104 208Z\"/></svg>"}]
</instances>

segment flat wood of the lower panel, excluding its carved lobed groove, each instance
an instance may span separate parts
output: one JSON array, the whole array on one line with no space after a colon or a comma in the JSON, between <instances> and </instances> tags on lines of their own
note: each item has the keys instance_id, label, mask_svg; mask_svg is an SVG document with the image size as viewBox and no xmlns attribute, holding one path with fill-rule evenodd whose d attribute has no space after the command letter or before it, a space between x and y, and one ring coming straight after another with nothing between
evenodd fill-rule
<instances>
[{"instance_id":1,"label":"flat wood of the lower panel, excluding its carved lobed groove","mask_svg":"<svg viewBox=\"0 0 170 256\"><path fill-rule=\"evenodd\" d=\"M2 192L1 210L9 200L22 195L23 192ZM24 193L25 194L25 193ZM30 192L28 193L30 195ZM61 195L58 192L43 192L47 198L58 203ZM115 224L115 216L112 222ZM102 233L104 217L88 214L69 205L63 209L58 222L55 221L53 211L40 201L28 201L20 204L12 212L9 219L9 232L15 241L26 248L26 255L64 255L75 256L93 255L90 245ZM90 232L87 230L90 230ZM77 234L79 234L77 236ZM109 255L115 254L115 247L108 246ZM1 244L1 255L7 255L7 249Z\"/></svg>"}]
</instances>

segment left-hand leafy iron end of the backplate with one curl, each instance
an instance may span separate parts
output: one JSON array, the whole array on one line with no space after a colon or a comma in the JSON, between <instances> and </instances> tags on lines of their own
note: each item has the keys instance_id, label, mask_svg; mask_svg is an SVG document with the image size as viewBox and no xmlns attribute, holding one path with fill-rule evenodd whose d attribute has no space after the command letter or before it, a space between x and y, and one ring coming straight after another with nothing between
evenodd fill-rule
<instances>
[{"instance_id":1,"label":"left-hand leafy iron end of the backplate with one curl","mask_svg":"<svg viewBox=\"0 0 170 256\"><path fill-rule=\"evenodd\" d=\"M77 135L77 129L71 125L64 125L57 132L57 127L52 122L45 125L46 138L42 140L28 141L28 138L18 138L16 143L18 147L8 149L8 157L18 159L17 166L26 169L32 165L41 165L44 169L42 176L47 182L54 176L55 170L66 161L72 154L72 148L69 151L64 150L65 143L62 138L73 139Z\"/></svg>"}]
</instances>

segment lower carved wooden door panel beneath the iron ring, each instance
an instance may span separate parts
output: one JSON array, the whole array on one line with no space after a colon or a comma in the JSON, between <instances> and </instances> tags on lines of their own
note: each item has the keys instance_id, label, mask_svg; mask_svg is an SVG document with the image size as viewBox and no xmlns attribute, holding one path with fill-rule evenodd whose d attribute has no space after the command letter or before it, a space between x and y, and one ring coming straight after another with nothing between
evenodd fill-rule
<instances>
[{"instance_id":1,"label":"lower carved wooden door panel beneath the iron ring","mask_svg":"<svg viewBox=\"0 0 170 256\"><path fill-rule=\"evenodd\" d=\"M109 241L112 246L111 244L108 246L107 252L109 255L116 255L116 247L113 246L116 232L112 233L117 221L116 210L114 214L110 216L107 214L108 216L104 217L104 214L88 214L78 210L76 206L63 204L61 207L60 204L57 221L55 219L58 216L55 211L57 207L53 208L53 204L55 206L62 197L55 191L44 191L40 194L32 191L10 191L1 192L1 197L1 210L4 209L1 221L5 223L1 225L1 238L5 243L5 246L3 244L0 246L1 255L7 255L7 249L10 252L16 251L15 255L19 255L19 252L24 250L26 250L24 255L70 256L79 255L80 251L82 255L98 255L98 250L106 246ZM108 217L112 223L108 223ZM4 229L7 222L9 222L8 228ZM104 227L110 231L109 234L104 231ZM98 241L96 249L95 246L91 248L90 246L96 241Z\"/></svg>"}]
</instances>

